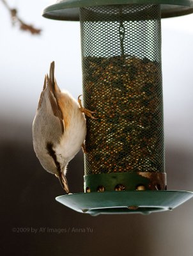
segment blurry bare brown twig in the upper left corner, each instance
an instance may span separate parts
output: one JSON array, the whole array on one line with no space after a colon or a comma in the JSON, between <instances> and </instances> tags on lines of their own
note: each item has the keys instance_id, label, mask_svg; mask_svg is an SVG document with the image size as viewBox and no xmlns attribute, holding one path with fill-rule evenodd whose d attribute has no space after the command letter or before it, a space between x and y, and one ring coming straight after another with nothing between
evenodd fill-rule
<instances>
[{"instance_id":1,"label":"blurry bare brown twig in the upper left corner","mask_svg":"<svg viewBox=\"0 0 193 256\"><path fill-rule=\"evenodd\" d=\"M6 0L1 0L1 2L4 4L4 6L7 8L7 10L10 12L12 24L19 24L19 28L24 31L29 31L32 35L40 35L40 32L42 29L37 29L33 25L26 24L24 21L22 21L19 16L17 15L17 9L10 8Z\"/></svg>"}]
</instances>

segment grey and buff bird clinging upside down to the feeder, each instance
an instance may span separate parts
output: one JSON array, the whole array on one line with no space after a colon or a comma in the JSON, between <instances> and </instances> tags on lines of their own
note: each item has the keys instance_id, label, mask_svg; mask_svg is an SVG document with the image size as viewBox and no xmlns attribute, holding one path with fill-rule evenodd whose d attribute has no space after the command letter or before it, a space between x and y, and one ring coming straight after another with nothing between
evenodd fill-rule
<instances>
[{"instance_id":1,"label":"grey and buff bird clinging upside down to the feeder","mask_svg":"<svg viewBox=\"0 0 193 256\"><path fill-rule=\"evenodd\" d=\"M69 92L60 90L54 68L52 61L33 120L33 148L43 168L56 175L66 193L70 193L66 180L67 165L81 147L85 152L85 115L97 118L93 116L96 111L82 107L82 95L75 100Z\"/></svg>"}]
</instances>

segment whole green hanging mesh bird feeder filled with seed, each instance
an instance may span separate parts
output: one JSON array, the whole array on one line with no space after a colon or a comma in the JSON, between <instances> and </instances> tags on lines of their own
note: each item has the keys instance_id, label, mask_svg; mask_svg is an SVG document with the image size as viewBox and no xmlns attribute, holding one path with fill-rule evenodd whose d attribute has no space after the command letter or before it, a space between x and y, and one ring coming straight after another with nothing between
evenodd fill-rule
<instances>
[{"instance_id":1,"label":"whole green hanging mesh bird feeder filled with seed","mask_svg":"<svg viewBox=\"0 0 193 256\"><path fill-rule=\"evenodd\" d=\"M80 20L87 118L84 193L56 200L92 215L174 209L193 196L168 191L164 164L161 18L193 0L62 0L43 16Z\"/></svg>"}]
</instances>

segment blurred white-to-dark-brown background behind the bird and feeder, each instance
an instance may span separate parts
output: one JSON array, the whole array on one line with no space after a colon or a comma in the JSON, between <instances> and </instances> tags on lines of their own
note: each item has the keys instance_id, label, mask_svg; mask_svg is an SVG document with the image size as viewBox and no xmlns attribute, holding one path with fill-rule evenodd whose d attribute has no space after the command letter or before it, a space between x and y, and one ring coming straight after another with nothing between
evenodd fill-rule
<instances>
[{"instance_id":1,"label":"blurred white-to-dark-brown background behind the bird and feeder","mask_svg":"<svg viewBox=\"0 0 193 256\"><path fill-rule=\"evenodd\" d=\"M192 255L193 200L149 216L97 217L56 202L63 189L36 158L31 126L52 60L59 86L75 98L82 93L79 22L44 19L42 10L53 1L8 3L42 33L31 35L13 27L0 1L1 255ZM193 15L162 20L166 172L171 190L193 191L192 23ZM72 193L83 191L83 175L79 152L68 166Z\"/></svg>"}]
</instances>

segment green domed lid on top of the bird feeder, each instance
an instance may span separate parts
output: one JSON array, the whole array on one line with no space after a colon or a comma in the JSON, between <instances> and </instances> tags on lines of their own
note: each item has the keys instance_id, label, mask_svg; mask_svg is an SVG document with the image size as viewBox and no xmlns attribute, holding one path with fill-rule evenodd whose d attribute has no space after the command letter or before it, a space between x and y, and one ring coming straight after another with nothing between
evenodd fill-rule
<instances>
[{"instance_id":1,"label":"green domed lid on top of the bird feeder","mask_svg":"<svg viewBox=\"0 0 193 256\"><path fill-rule=\"evenodd\" d=\"M108 4L161 4L162 18L193 13L193 0L58 0L43 10L43 17L79 20L79 8Z\"/></svg>"}]
</instances>

